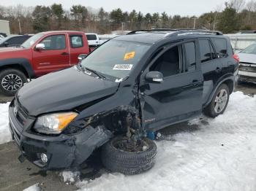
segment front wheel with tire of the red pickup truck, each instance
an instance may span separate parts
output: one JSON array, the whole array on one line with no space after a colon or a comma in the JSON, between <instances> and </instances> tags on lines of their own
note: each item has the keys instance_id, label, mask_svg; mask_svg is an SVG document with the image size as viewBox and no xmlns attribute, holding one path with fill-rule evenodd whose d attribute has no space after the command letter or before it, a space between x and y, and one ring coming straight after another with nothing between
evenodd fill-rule
<instances>
[{"instance_id":1,"label":"front wheel with tire of the red pickup truck","mask_svg":"<svg viewBox=\"0 0 256 191\"><path fill-rule=\"evenodd\" d=\"M26 82L26 75L18 69L4 69L0 71L0 92L4 95L15 95Z\"/></svg>"}]
</instances>

